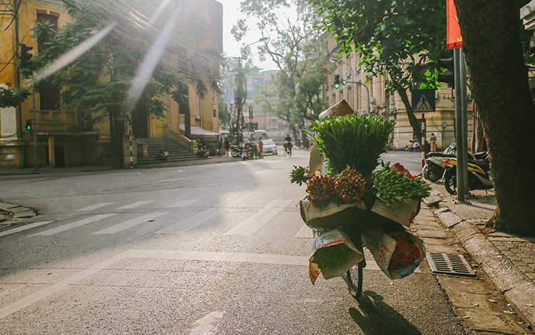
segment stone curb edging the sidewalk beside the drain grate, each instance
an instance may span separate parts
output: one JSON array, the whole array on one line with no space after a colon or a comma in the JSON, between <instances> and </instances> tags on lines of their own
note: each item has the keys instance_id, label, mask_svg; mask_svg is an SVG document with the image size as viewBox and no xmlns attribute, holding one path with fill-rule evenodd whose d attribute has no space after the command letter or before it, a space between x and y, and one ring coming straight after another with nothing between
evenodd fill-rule
<instances>
[{"instance_id":1,"label":"stone curb edging the sidewalk beside the drain grate","mask_svg":"<svg viewBox=\"0 0 535 335\"><path fill-rule=\"evenodd\" d=\"M476 260L511 306L535 329L535 284L514 266L486 236L444 202L435 212L440 224L459 239L466 251Z\"/></svg>"}]
</instances>

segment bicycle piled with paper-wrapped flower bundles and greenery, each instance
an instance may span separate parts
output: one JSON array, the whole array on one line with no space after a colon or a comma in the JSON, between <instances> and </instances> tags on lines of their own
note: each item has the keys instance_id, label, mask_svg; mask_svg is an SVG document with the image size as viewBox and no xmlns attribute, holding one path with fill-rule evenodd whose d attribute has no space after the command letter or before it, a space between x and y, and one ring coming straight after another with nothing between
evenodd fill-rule
<instances>
[{"instance_id":1,"label":"bicycle piled with paper-wrapped flower bundles and greenery","mask_svg":"<svg viewBox=\"0 0 535 335\"><path fill-rule=\"evenodd\" d=\"M345 100L312 123L315 134L307 168L294 166L290 181L306 184L303 221L317 236L309 259L312 284L342 276L350 293L362 293L363 249L390 279L401 279L425 257L408 227L431 186L401 164L381 164L394 122L353 113Z\"/></svg>"}]
</instances>

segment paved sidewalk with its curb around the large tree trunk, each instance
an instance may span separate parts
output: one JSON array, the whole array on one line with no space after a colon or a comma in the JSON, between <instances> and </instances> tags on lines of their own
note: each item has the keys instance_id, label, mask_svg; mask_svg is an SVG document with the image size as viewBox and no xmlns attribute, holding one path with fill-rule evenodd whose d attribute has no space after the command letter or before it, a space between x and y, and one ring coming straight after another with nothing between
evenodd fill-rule
<instances>
[{"instance_id":1,"label":"paved sidewalk with its curb around the large tree trunk","mask_svg":"<svg viewBox=\"0 0 535 335\"><path fill-rule=\"evenodd\" d=\"M479 267L504 294L509 304L535 329L535 239L485 228L494 213L494 191L474 191L462 203L444 186L434 184L427 206L436 207L434 216L454 234Z\"/></svg>"}]
</instances>

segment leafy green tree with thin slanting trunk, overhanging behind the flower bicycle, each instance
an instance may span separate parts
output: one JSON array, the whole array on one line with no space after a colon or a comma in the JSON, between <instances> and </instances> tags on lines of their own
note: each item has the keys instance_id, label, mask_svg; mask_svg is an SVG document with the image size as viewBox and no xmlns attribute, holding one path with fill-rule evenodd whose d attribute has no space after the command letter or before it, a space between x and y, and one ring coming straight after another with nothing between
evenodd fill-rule
<instances>
[{"instance_id":1,"label":"leafy green tree with thin slanting trunk, overhanging behind the flower bicycle","mask_svg":"<svg viewBox=\"0 0 535 335\"><path fill-rule=\"evenodd\" d=\"M443 0L309 0L324 14L322 29L335 34L340 52L360 54L365 71L388 76L387 94L401 98L414 136L422 134L408 92L434 88L429 60L444 54L446 9ZM436 69L434 69L436 70ZM430 74L434 74L431 71Z\"/></svg>"}]
</instances>

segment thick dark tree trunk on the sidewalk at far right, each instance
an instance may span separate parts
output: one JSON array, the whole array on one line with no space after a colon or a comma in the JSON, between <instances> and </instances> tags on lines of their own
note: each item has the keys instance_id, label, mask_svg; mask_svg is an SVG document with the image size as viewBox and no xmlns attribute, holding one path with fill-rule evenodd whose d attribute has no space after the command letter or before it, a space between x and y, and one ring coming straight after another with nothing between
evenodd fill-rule
<instances>
[{"instance_id":1,"label":"thick dark tree trunk on the sidewalk at far right","mask_svg":"<svg viewBox=\"0 0 535 335\"><path fill-rule=\"evenodd\" d=\"M535 236L535 106L515 4L455 0L472 94L491 154L497 207L489 224Z\"/></svg>"}]
</instances>

